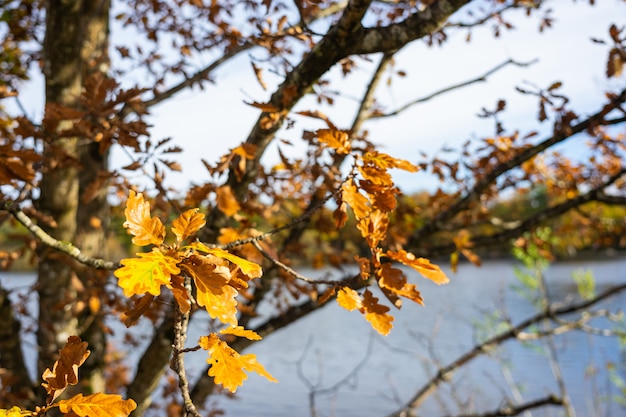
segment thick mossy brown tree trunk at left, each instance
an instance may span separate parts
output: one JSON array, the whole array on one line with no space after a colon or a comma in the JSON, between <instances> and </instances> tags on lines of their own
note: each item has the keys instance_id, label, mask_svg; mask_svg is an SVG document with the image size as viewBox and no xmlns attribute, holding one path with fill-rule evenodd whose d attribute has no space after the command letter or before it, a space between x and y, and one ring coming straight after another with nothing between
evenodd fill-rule
<instances>
[{"instance_id":1,"label":"thick mossy brown tree trunk at left","mask_svg":"<svg viewBox=\"0 0 626 417\"><path fill-rule=\"evenodd\" d=\"M81 109L85 79L104 72L108 64L107 40L110 0L50 0L46 10L44 73L46 77L46 120L58 120L47 132L44 143L39 209L55 219L46 231L55 238L76 244L86 255L105 257L104 231L109 217L106 186L97 195L81 200L86 188L107 168L107 157L91 138L68 137L72 128L63 120L62 108ZM61 114L61 116L59 116ZM97 220L96 220L97 219ZM81 380L92 391L104 388L102 355L106 340L95 308L83 308L89 297L99 294L103 277L94 270L78 267L69 258L43 249L38 270L39 345L38 372L52 367L58 350L70 335L81 335L92 351L89 364L81 369ZM85 301L86 304L77 301ZM89 340L91 339L91 340Z\"/></svg>"}]
</instances>

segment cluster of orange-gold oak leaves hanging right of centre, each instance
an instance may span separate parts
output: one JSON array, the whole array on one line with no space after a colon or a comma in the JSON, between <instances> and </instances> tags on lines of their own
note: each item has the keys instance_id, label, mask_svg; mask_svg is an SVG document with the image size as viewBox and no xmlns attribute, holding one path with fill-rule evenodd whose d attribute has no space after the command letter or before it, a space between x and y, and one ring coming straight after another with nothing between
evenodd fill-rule
<instances>
[{"instance_id":1,"label":"cluster of orange-gold oak leaves hanging right of centre","mask_svg":"<svg viewBox=\"0 0 626 417\"><path fill-rule=\"evenodd\" d=\"M326 142L327 144L330 142ZM383 251L383 244L389 226L389 213L396 207L396 195L400 191L395 187L388 170L398 168L409 172L417 167L408 161L396 159L380 152L366 152L358 158L358 172L361 180L349 179L341 190L341 201L334 218L338 228L347 220L347 206L352 208L356 226L367 242L371 258L357 258L363 280L373 276L385 297L397 308L402 306L400 297L423 304L422 296L414 284L410 284L404 271L395 268L383 258L400 262L415 269L424 277L437 284L445 284L448 277L441 268L428 259L416 258L405 250ZM379 333L386 335L393 327L393 316L388 314L389 307L379 304L369 290L363 295L344 287L337 294L337 302L347 310L359 310L365 319Z\"/></svg>"}]
</instances>

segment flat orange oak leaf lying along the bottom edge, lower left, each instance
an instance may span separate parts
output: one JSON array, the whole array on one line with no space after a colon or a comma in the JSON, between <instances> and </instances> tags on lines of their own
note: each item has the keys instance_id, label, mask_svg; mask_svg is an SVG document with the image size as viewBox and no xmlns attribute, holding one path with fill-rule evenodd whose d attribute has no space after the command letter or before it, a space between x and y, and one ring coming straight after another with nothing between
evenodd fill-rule
<instances>
[{"instance_id":1,"label":"flat orange oak leaf lying along the bottom edge, lower left","mask_svg":"<svg viewBox=\"0 0 626 417\"><path fill-rule=\"evenodd\" d=\"M72 412L80 417L126 417L135 408L133 400L124 400L115 394L76 394L57 403L62 413Z\"/></svg>"}]
</instances>

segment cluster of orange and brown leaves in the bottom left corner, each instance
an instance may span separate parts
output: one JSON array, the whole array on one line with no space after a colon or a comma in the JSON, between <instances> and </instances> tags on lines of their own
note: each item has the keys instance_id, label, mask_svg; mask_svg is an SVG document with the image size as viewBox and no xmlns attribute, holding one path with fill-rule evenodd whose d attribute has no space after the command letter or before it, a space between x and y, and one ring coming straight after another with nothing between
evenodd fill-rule
<instances>
[{"instance_id":1,"label":"cluster of orange and brown leaves in the bottom left corner","mask_svg":"<svg viewBox=\"0 0 626 417\"><path fill-rule=\"evenodd\" d=\"M24 417L45 414L47 410L58 407L61 413L78 417L127 417L137 404L133 400L124 400L115 394L96 393L83 396L76 394L67 400L55 402L69 385L78 383L78 368L89 357L87 342L78 336L70 336L65 346L59 351L59 360L52 370L46 369L42 375L42 386L48 393L48 401L42 410L37 412L12 407L0 410L0 417Z\"/></svg>"}]
</instances>

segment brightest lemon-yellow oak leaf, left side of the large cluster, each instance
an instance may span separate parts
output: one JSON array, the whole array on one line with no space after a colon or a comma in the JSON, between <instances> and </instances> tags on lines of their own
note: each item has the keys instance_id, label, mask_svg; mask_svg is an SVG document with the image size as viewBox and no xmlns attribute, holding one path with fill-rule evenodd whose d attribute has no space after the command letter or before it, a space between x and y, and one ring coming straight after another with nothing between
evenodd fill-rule
<instances>
[{"instance_id":1,"label":"brightest lemon-yellow oak leaf, left side of the large cluster","mask_svg":"<svg viewBox=\"0 0 626 417\"><path fill-rule=\"evenodd\" d=\"M115 270L118 285L126 297L149 293L161 294L161 285L169 285L172 275L180 274L178 260L154 248L138 253L139 258L122 259L123 266Z\"/></svg>"}]
</instances>

